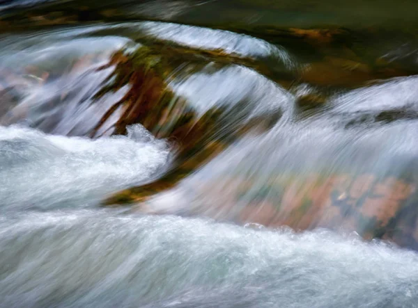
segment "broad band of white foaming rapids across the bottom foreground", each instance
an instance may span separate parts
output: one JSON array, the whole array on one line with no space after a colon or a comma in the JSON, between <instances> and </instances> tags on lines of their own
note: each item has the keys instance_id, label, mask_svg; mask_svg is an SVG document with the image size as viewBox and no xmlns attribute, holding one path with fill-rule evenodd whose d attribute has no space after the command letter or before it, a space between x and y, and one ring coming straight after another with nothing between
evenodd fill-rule
<instances>
[{"instance_id":1,"label":"broad band of white foaming rapids across the bottom foreground","mask_svg":"<svg viewBox=\"0 0 418 308\"><path fill-rule=\"evenodd\" d=\"M355 234L102 211L26 212L0 219L0 250L0 307L418 302L418 255Z\"/></svg>"}]
</instances>

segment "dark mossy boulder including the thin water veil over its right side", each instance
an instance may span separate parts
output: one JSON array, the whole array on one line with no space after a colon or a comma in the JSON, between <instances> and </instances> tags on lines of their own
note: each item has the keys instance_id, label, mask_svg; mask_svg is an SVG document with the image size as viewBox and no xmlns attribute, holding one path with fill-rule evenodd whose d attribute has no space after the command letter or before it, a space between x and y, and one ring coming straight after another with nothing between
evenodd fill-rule
<instances>
[{"instance_id":1,"label":"dark mossy boulder including the thin water veil over its right side","mask_svg":"<svg viewBox=\"0 0 418 308\"><path fill-rule=\"evenodd\" d=\"M120 88L126 83L131 86L131 90L120 101L125 111L116 123L116 132L123 133L126 125L139 122L157 138L171 141L175 156L171 169L164 177L116 194L106 201L107 204L144 201L159 191L175 186L210 157L222 152L238 136L254 127L266 129L277 122L283 112L281 102L291 97L252 71L245 72L250 76L247 77L250 78L247 81L249 86L256 87L254 82L261 78L270 91L276 91L277 88L281 97L278 102L274 102L276 106L263 110L255 101L251 102L255 93L248 88L245 89L247 93L230 97L233 89L217 83L224 82L223 79L213 77L211 81L211 76L227 74L228 67L231 67L222 62L224 55L219 55L220 62L217 58L208 62L208 58L202 57L201 52L184 54L183 51L183 48L165 47L156 52L150 47L140 47L127 56L115 54L111 60L111 63L118 63L116 79L104 91ZM182 67L182 70L178 71L178 67ZM247 69L236 66L231 70ZM202 81L194 74L202 74ZM194 78L189 79L189 76ZM204 86L212 82L222 87L219 88L219 95L212 93L212 97L206 96L204 99L208 99L207 104L192 102L178 95L183 83L202 86L201 82L206 83Z\"/></svg>"}]
</instances>

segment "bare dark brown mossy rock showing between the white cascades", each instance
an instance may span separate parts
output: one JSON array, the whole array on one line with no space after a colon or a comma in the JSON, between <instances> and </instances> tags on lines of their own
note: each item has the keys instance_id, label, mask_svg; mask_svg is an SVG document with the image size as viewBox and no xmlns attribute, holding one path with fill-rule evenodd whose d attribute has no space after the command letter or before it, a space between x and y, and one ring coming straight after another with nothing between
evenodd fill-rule
<instances>
[{"instance_id":1,"label":"bare dark brown mossy rock showing between the white cascades","mask_svg":"<svg viewBox=\"0 0 418 308\"><path fill-rule=\"evenodd\" d=\"M234 106L213 106L203 114L198 113L183 97L178 97L167 86L167 81L173 78L176 68L185 63L192 63L192 68L199 72L202 65L208 63L207 54L196 51L189 54L185 49L176 47L140 47L127 54L114 54L109 65L116 65L115 76L111 83L98 94L130 85L130 90L118 104L102 119L123 106L123 115L116 123L116 133L124 133L127 125L140 123L157 138L165 138L173 145L175 153L170 170L160 179L150 181L142 186L134 187L116 193L104 203L109 205L141 202L160 191L175 186L191 172L199 168L208 159L222 152L234 140L247 133L252 127L268 129L281 116L281 112L254 116L251 120L231 120L246 101L237 102ZM210 56L214 56L213 52ZM224 57L222 54L216 56ZM226 63L218 63L221 67ZM105 67L103 67L105 68ZM231 108L230 108L231 107ZM247 114L246 114L247 113ZM244 117L245 118L245 117ZM95 132L100 129L100 125ZM93 132L92 136L95 136Z\"/></svg>"}]
</instances>

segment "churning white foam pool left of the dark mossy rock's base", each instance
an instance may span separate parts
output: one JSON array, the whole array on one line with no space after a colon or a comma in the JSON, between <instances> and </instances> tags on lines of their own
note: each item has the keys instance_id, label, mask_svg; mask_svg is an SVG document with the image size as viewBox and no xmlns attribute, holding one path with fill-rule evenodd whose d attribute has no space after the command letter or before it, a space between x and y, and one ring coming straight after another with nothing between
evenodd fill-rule
<instances>
[{"instance_id":1,"label":"churning white foam pool left of the dark mossy rock's base","mask_svg":"<svg viewBox=\"0 0 418 308\"><path fill-rule=\"evenodd\" d=\"M128 136L97 140L0 127L1 204L43 209L88 203L144 181L164 168L168 156L167 143L140 125L130 127Z\"/></svg>"}]
</instances>

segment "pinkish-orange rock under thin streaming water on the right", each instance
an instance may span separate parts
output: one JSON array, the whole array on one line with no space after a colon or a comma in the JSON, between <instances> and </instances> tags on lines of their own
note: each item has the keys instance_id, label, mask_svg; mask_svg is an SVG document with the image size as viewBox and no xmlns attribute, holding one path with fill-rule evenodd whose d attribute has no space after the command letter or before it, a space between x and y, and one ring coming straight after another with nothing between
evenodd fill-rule
<instances>
[{"instance_id":1,"label":"pinkish-orange rock under thin streaming water on the right","mask_svg":"<svg viewBox=\"0 0 418 308\"><path fill-rule=\"evenodd\" d=\"M177 195L162 193L151 199L146 203L148 211L207 216L240 225L257 224L270 228L306 230L325 227L357 232L366 239L382 238L410 248L416 245L412 234L418 234L415 223L417 186L405 179L371 174L327 177L315 174L304 179L281 177L280 181L262 187L240 178L225 179L225 184L212 185L197 181L190 189L196 195L195 199L187 199L189 194L183 191L183 195L177 188L171 190ZM205 195L212 196L210 202L204 206L196 205ZM164 198L168 204L162 206L160 201ZM141 205L135 209L143 211ZM407 238L410 238L408 243L405 242Z\"/></svg>"}]
</instances>

